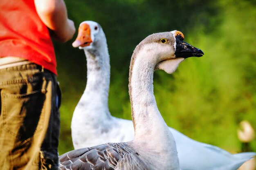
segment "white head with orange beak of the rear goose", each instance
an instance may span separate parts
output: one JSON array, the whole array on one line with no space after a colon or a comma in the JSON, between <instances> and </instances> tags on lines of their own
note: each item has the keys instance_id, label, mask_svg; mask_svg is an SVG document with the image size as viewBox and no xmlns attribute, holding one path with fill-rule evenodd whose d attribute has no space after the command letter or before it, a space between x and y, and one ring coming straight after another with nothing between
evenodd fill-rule
<instances>
[{"instance_id":1,"label":"white head with orange beak of the rear goose","mask_svg":"<svg viewBox=\"0 0 256 170\"><path fill-rule=\"evenodd\" d=\"M78 35L72 46L90 51L100 49L103 43L106 44L106 37L100 24L84 21L79 25Z\"/></svg>"}]
</instances>

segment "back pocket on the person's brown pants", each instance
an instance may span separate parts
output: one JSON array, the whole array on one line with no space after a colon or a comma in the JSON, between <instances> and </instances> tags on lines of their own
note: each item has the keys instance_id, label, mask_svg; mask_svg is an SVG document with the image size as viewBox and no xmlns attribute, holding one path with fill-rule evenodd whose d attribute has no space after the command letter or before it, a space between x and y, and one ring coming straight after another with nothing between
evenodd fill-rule
<instances>
[{"instance_id":1,"label":"back pocket on the person's brown pants","mask_svg":"<svg viewBox=\"0 0 256 170\"><path fill-rule=\"evenodd\" d=\"M4 130L21 139L40 132L44 125L45 91L18 95L2 93Z\"/></svg>"}]
</instances>

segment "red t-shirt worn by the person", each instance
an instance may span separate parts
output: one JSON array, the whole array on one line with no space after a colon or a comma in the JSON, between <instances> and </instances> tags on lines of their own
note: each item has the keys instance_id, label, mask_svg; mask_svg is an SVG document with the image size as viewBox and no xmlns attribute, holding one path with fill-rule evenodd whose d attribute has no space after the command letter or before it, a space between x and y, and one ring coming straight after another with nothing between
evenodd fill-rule
<instances>
[{"instance_id":1,"label":"red t-shirt worn by the person","mask_svg":"<svg viewBox=\"0 0 256 170\"><path fill-rule=\"evenodd\" d=\"M34 0L0 0L0 57L21 57L57 74L54 47Z\"/></svg>"}]
</instances>

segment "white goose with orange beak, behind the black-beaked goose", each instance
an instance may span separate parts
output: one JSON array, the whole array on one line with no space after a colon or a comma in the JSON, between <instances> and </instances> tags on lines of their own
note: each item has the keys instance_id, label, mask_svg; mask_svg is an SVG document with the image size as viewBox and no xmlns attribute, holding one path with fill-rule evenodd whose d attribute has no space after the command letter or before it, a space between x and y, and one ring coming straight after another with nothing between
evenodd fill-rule
<instances>
[{"instance_id":1,"label":"white goose with orange beak, behind the black-beaked goose","mask_svg":"<svg viewBox=\"0 0 256 170\"><path fill-rule=\"evenodd\" d=\"M88 68L85 92L72 118L74 148L132 140L132 121L112 117L108 109L110 64L101 26L92 21L82 22L73 46L84 49ZM255 155L231 155L216 146L194 141L173 128L169 129L176 141L181 170L236 170Z\"/></svg>"}]
</instances>

